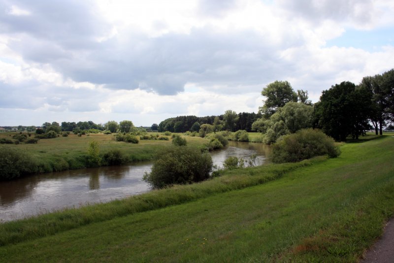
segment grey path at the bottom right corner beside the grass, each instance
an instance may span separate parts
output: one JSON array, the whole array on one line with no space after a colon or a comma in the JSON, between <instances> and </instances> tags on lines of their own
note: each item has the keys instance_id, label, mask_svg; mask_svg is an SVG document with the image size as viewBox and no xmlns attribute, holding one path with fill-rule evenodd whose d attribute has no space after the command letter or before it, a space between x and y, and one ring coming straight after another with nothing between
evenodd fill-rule
<instances>
[{"instance_id":1,"label":"grey path at the bottom right corner beside the grass","mask_svg":"<svg viewBox=\"0 0 394 263\"><path fill-rule=\"evenodd\" d=\"M365 253L360 263L394 263L394 219L391 219L383 236Z\"/></svg>"}]
</instances>

